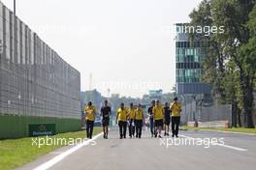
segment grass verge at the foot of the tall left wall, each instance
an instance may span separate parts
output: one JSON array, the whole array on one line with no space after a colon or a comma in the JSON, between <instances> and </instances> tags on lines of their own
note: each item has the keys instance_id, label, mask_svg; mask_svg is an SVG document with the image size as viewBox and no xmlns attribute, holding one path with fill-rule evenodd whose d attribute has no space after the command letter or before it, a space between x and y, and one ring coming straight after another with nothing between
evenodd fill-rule
<instances>
[{"instance_id":1,"label":"grass verge at the foot of the tall left wall","mask_svg":"<svg viewBox=\"0 0 256 170\"><path fill-rule=\"evenodd\" d=\"M94 128L93 130L94 134L98 134L100 132L102 132L102 128ZM59 133L50 137L61 139L65 138L69 141L70 138L83 139L85 137L85 132L84 130L80 130L75 132ZM42 138L46 138L46 136L42 136ZM35 145L32 146L32 143L32 137L0 140L0 169L15 169L16 167L30 162L39 156L65 146L63 143L62 145L43 145L39 148Z\"/></svg>"}]
</instances>

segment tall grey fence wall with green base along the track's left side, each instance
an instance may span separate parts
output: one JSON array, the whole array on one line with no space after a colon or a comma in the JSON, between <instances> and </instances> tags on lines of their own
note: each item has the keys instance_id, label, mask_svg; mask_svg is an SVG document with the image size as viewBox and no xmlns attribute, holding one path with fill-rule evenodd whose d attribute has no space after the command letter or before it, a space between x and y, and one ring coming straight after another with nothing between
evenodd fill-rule
<instances>
[{"instance_id":1,"label":"tall grey fence wall with green base along the track's left side","mask_svg":"<svg viewBox=\"0 0 256 170\"><path fill-rule=\"evenodd\" d=\"M80 72L0 2L0 138L80 128Z\"/></svg>"}]
</instances>

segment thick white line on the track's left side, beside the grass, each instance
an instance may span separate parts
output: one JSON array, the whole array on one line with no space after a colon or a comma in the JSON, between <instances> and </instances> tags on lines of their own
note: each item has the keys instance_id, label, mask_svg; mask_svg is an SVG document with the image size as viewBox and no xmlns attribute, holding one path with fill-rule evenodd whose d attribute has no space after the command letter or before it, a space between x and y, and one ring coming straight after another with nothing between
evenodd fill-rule
<instances>
[{"instance_id":1,"label":"thick white line on the track's left side, beside the grass","mask_svg":"<svg viewBox=\"0 0 256 170\"><path fill-rule=\"evenodd\" d=\"M54 164L56 164L57 162L61 161L63 158L65 158L66 156L71 155L72 153L78 151L81 147L89 145L90 142L92 142L93 140L97 139L98 137L100 137L103 134L103 132L95 135L92 139L86 140L84 142L82 142L81 144L69 149L68 151L55 156L51 159L49 159L47 162L39 165L38 167L36 167L34 170L47 170L48 168L52 167Z\"/></svg>"}]
</instances>

